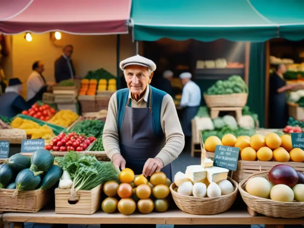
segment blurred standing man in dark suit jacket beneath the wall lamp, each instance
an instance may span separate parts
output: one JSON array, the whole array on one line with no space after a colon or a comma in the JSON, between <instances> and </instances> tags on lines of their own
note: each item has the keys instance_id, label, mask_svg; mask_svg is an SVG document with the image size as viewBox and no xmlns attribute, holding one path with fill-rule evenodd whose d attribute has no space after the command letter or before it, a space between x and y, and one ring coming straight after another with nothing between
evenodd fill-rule
<instances>
[{"instance_id":1,"label":"blurred standing man in dark suit jacket beneath the wall lamp","mask_svg":"<svg viewBox=\"0 0 304 228\"><path fill-rule=\"evenodd\" d=\"M55 61L55 80L56 83L75 78L75 68L71 56L73 54L73 45L67 44L62 49L62 55Z\"/></svg>"}]
</instances>

